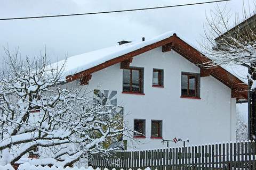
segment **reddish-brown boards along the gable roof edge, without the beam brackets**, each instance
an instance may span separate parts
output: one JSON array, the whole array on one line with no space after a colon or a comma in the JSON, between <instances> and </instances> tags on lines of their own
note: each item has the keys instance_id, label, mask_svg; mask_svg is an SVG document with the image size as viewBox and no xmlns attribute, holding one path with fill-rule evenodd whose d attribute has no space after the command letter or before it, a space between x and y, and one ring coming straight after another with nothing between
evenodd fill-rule
<instances>
[{"instance_id":1,"label":"reddish-brown boards along the gable roof edge, without the beam brackets","mask_svg":"<svg viewBox=\"0 0 256 170\"><path fill-rule=\"evenodd\" d=\"M105 63L99 64L97 66L91 67L90 69L81 71L79 73L76 73L74 75L68 75L66 77L67 82L71 82L77 79L80 79L82 77L91 75L94 72L97 72L99 70L105 69L106 67L109 67L111 65L121 63L123 61L129 60L129 58L132 58L134 56L140 55L142 53L148 52L151 49L164 46L166 44L172 43L172 49L179 53L181 56L185 57L188 61L191 63L196 64L200 68L204 68L202 64L205 64L207 62L211 62L211 60L207 57L205 57L202 53L198 52L197 49L194 47L191 47L189 44L187 44L185 41L177 37L175 34L169 38L166 38L164 40L158 41L157 43L142 47L140 49L134 50L133 52L127 53L125 55L113 58L112 60L109 60ZM223 84L225 84L227 87L231 89L235 89L236 91L241 92L241 98L247 99L247 85L243 83L241 80L239 80L235 75L229 73L227 70L223 69L221 66L215 66L214 69L212 69L213 72L210 74L216 78L217 80L221 81ZM237 96L237 95L236 95Z\"/></svg>"}]
</instances>

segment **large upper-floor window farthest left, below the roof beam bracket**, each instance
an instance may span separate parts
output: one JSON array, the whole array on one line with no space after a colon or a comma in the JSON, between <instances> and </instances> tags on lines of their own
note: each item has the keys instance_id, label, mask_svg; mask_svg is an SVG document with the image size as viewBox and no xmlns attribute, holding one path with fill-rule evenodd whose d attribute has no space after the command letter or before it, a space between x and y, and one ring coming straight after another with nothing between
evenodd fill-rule
<instances>
[{"instance_id":1,"label":"large upper-floor window farthest left, below the roof beam bracket","mask_svg":"<svg viewBox=\"0 0 256 170\"><path fill-rule=\"evenodd\" d=\"M123 91L143 93L143 69L132 67L123 69Z\"/></svg>"}]
</instances>

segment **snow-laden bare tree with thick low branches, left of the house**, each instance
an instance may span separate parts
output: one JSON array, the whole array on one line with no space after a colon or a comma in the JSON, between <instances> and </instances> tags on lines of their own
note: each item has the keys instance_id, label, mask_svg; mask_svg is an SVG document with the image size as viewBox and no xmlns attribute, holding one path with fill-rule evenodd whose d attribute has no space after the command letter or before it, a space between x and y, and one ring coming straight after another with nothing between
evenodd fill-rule
<instances>
[{"instance_id":1,"label":"snow-laden bare tree with thick low branches, left of the house","mask_svg":"<svg viewBox=\"0 0 256 170\"><path fill-rule=\"evenodd\" d=\"M127 130L119 107L95 104L81 88L70 88L62 77L65 65L53 68L46 56L30 61L20 60L18 52L6 54L0 75L0 164L32 153L38 158L31 164L71 166L118 148L107 146Z\"/></svg>"}]
</instances>

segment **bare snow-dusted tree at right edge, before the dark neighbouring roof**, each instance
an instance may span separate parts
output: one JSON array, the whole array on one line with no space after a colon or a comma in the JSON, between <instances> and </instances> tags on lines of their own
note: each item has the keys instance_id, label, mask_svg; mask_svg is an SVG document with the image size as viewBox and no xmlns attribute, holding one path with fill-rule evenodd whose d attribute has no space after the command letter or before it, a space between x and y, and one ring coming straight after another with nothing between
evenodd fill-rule
<instances>
[{"instance_id":1,"label":"bare snow-dusted tree at right edge, before the dark neighbouring roof","mask_svg":"<svg viewBox=\"0 0 256 170\"><path fill-rule=\"evenodd\" d=\"M254 6L255 7L255 6ZM250 18L248 16L251 16ZM254 12L243 12L244 20L236 17L231 20L227 7L219 6L206 16L204 29L205 41L202 43L203 52L211 57L212 63L205 63L206 67L214 65L242 65L248 69L249 83L249 138L256 138L256 15ZM230 25L235 23L235 27ZM239 23L239 24L238 24Z\"/></svg>"}]
</instances>

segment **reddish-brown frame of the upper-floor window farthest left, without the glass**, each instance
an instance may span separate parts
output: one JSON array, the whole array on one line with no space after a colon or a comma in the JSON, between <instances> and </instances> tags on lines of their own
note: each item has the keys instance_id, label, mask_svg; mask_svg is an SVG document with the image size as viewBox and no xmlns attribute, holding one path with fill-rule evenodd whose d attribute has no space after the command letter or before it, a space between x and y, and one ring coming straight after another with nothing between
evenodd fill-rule
<instances>
[{"instance_id":1,"label":"reddish-brown frame of the upper-floor window farthest left, without the glass","mask_svg":"<svg viewBox=\"0 0 256 170\"><path fill-rule=\"evenodd\" d=\"M130 93L138 93L138 94L143 94L142 92L142 84L143 84L143 78L142 78L142 68L128 68L128 69L124 69L124 70L130 70L130 90L124 90L123 88L123 92L130 92ZM132 90L132 71L133 70L138 70L139 71L139 91L133 91Z\"/></svg>"}]
</instances>

